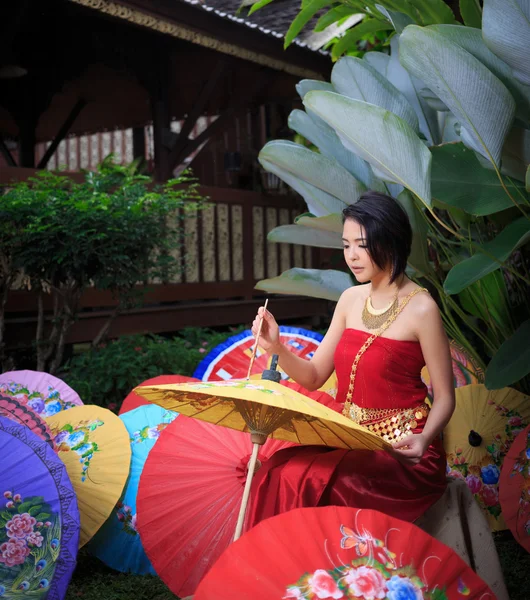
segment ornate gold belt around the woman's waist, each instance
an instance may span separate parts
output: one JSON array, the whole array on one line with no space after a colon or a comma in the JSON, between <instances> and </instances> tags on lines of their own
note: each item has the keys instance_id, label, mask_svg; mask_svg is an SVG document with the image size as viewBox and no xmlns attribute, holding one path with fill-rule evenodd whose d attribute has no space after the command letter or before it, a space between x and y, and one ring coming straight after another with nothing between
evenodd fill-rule
<instances>
[{"instance_id":1,"label":"ornate gold belt around the woman's waist","mask_svg":"<svg viewBox=\"0 0 530 600\"><path fill-rule=\"evenodd\" d=\"M429 410L425 403L415 408L362 408L352 402L347 416L392 443L411 434L418 427L418 421L427 418Z\"/></svg>"}]
</instances>

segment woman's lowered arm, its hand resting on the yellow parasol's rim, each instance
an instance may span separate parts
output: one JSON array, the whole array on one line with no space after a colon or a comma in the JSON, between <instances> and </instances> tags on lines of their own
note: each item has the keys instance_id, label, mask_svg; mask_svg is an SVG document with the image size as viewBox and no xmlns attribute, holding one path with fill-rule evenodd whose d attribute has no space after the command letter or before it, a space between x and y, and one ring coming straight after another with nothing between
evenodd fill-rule
<instances>
[{"instance_id":1,"label":"woman's lowered arm, its hand resting on the yellow parasol's rim","mask_svg":"<svg viewBox=\"0 0 530 600\"><path fill-rule=\"evenodd\" d=\"M455 409L449 341L440 311L432 298L422 297L421 304L417 306L417 317L416 335L431 378L434 400L423 431L393 445L394 449L399 449L401 458L413 464L419 462L432 441L444 430ZM403 449L406 446L408 449Z\"/></svg>"}]
</instances>

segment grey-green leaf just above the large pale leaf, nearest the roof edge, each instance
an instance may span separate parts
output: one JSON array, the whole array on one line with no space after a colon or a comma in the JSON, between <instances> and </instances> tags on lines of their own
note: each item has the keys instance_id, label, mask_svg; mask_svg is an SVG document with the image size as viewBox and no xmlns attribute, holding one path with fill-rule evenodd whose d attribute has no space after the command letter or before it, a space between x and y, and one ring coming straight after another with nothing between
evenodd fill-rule
<instances>
[{"instance_id":1,"label":"grey-green leaf just above the large pale leaf, nearest the roof edge","mask_svg":"<svg viewBox=\"0 0 530 600\"><path fill-rule=\"evenodd\" d=\"M405 96L365 60L341 58L331 71L331 83L339 94L381 106L419 131L418 117Z\"/></svg>"}]
</instances>

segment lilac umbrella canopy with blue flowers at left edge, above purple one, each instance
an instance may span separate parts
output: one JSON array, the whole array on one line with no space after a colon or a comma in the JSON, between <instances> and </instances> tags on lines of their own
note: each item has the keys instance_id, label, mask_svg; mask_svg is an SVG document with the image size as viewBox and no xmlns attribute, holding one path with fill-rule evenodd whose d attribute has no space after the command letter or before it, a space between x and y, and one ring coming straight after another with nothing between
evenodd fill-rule
<instances>
[{"instance_id":1,"label":"lilac umbrella canopy with blue flowers at left edge, above purple one","mask_svg":"<svg viewBox=\"0 0 530 600\"><path fill-rule=\"evenodd\" d=\"M83 403L64 381L40 371L8 371L0 375L0 393L27 404L41 417L50 417L62 410Z\"/></svg>"}]
</instances>

